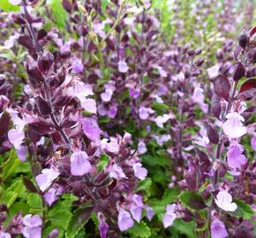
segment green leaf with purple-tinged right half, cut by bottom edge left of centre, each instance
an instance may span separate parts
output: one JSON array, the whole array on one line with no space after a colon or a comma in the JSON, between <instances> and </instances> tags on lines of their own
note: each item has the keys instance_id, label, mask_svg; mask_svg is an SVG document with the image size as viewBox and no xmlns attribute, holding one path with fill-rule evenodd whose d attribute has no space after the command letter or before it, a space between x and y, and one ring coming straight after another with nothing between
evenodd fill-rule
<instances>
[{"instance_id":1,"label":"green leaf with purple-tinged right half, cut by bottom edge left of centre","mask_svg":"<svg viewBox=\"0 0 256 238\"><path fill-rule=\"evenodd\" d=\"M87 206L85 208L77 209L70 223L67 227L65 237L73 238L76 234L79 233L79 230L87 224L88 219L90 218L92 212L94 212L94 206Z\"/></svg>"}]
</instances>

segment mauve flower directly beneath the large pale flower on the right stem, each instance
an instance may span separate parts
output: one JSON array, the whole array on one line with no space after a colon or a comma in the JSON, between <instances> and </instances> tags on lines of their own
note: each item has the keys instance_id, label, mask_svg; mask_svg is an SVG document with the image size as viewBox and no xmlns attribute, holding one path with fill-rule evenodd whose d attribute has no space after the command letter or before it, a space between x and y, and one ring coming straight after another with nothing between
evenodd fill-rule
<instances>
[{"instance_id":1,"label":"mauve flower directly beneath the large pale flower on the right stem","mask_svg":"<svg viewBox=\"0 0 256 238\"><path fill-rule=\"evenodd\" d=\"M239 145L236 141L232 141L230 146L228 147L227 159L228 166L233 169L230 173L232 175L239 175L240 173L236 172L236 170L240 170L243 165L245 165L246 159L245 155L242 154L244 152L243 145Z\"/></svg>"}]
</instances>

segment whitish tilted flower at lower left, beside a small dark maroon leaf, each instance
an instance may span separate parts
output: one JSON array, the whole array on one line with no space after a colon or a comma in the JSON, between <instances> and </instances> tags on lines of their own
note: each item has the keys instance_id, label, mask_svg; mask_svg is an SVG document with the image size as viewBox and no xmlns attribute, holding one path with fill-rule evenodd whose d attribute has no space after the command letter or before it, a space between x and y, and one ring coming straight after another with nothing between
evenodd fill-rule
<instances>
[{"instance_id":1,"label":"whitish tilted flower at lower left, beside a small dark maroon leaf","mask_svg":"<svg viewBox=\"0 0 256 238\"><path fill-rule=\"evenodd\" d=\"M45 191L49 188L51 183L60 175L55 167L44 168L41 170L41 174L35 177L41 191Z\"/></svg>"}]
</instances>

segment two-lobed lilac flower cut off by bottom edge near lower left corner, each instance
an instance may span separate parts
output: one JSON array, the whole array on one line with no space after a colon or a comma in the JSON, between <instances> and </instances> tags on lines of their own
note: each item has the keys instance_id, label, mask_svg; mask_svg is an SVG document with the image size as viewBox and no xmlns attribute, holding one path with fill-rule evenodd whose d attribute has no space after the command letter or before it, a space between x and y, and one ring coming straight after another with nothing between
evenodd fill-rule
<instances>
[{"instance_id":1,"label":"two-lobed lilac flower cut off by bottom edge near lower left corner","mask_svg":"<svg viewBox=\"0 0 256 238\"><path fill-rule=\"evenodd\" d=\"M41 218L39 215L26 215L23 218L24 228L22 234L26 238L41 238Z\"/></svg>"}]
</instances>

